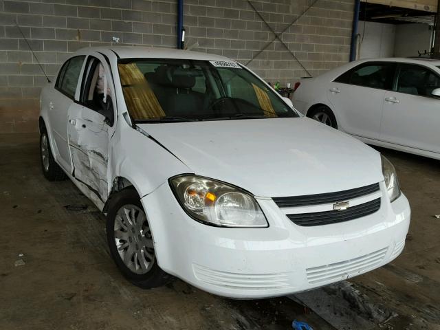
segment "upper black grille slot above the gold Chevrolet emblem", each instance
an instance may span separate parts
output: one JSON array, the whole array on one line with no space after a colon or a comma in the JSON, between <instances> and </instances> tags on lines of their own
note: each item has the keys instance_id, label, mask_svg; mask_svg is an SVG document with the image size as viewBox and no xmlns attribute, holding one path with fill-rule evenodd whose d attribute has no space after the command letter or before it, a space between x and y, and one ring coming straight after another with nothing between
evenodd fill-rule
<instances>
[{"instance_id":1,"label":"upper black grille slot above the gold Chevrolet emblem","mask_svg":"<svg viewBox=\"0 0 440 330\"><path fill-rule=\"evenodd\" d=\"M324 203L335 203L336 201L347 201L355 197L371 194L379 190L379 184L371 184L361 188L327 192L325 194L303 195L293 197L274 197L276 205L280 208L292 208L296 206L316 205Z\"/></svg>"}]
</instances>

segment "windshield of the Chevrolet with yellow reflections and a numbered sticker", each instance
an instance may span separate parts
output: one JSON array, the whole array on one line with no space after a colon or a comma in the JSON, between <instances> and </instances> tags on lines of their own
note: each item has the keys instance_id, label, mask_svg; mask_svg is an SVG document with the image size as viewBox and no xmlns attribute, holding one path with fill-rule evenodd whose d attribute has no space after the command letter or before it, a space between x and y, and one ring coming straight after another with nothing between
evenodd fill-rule
<instances>
[{"instance_id":1,"label":"windshield of the Chevrolet with yellow reflections and a numbered sticker","mask_svg":"<svg viewBox=\"0 0 440 330\"><path fill-rule=\"evenodd\" d=\"M118 69L135 122L298 116L234 62L129 58L119 60Z\"/></svg>"}]
</instances>

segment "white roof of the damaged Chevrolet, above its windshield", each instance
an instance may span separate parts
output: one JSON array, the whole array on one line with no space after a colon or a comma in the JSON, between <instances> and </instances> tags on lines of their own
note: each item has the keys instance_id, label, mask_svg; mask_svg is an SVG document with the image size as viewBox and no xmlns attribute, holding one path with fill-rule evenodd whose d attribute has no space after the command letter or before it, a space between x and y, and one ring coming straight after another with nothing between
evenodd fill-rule
<instances>
[{"instance_id":1,"label":"white roof of the damaged Chevrolet, above its windshield","mask_svg":"<svg viewBox=\"0 0 440 330\"><path fill-rule=\"evenodd\" d=\"M78 53L87 52L113 52L119 58L181 58L201 61L232 61L225 56L191 52L188 50L175 50L173 48L143 47L143 46L109 46L109 47L85 47Z\"/></svg>"}]
</instances>

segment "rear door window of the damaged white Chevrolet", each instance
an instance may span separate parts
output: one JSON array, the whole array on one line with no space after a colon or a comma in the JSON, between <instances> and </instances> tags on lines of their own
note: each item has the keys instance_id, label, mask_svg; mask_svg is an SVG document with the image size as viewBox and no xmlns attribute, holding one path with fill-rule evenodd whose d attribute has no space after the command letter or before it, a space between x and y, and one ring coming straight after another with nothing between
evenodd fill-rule
<instances>
[{"instance_id":1,"label":"rear door window of the damaged white Chevrolet","mask_svg":"<svg viewBox=\"0 0 440 330\"><path fill-rule=\"evenodd\" d=\"M61 68L56 79L56 89L69 98L74 98L78 78L83 67L85 56L76 56L69 59Z\"/></svg>"}]
</instances>

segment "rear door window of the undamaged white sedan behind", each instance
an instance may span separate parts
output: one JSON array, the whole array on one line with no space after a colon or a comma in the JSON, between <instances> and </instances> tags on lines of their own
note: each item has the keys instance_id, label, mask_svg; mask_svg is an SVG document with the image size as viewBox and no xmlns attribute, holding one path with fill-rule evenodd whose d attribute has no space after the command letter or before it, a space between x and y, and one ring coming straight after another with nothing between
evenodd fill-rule
<instances>
[{"instance_id":1,"label":"rear door window of the undamaged white sedan behind","mask_svg":"<svg viewBox=\"0 0 440 330\"><path fill-rule=\"evenodd\" d=\"M362 63L345 72L334 81L349 85L391 90L393 86L395 64Z\"/></svg>"}]
</instances>

